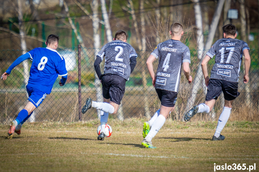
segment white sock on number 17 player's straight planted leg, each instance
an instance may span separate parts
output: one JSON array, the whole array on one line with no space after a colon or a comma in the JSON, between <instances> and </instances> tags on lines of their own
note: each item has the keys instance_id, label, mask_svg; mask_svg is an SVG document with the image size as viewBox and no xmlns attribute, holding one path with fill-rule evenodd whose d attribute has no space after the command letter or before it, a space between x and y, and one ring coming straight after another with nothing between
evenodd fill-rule
<instances>
[{"instance_id":1,"label":"white sock on number 17 player's straight planted leg","mask_svg":"<svg viewBox=\"0 0 259 172\"><path fill-rule=\"evenodd\" d=\"M214 134L215 137L219 137L221 130L224 128L224 126L227 123L227 120L230 116L231 108L224 107L221 115L218 118L218 126L216 128L216 132Z\"/></svg>"}]
</instances>

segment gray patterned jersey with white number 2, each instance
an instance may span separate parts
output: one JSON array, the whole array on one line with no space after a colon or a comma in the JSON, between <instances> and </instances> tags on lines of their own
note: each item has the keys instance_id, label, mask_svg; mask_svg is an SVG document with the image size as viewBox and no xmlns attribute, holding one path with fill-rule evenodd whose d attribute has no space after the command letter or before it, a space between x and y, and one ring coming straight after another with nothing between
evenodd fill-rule
<instances>
[{"instance_id":1,"label":"gray patterned jersey with white number 2","mask_svg":"<svg viewBox=\"0 0 259 172\"><path fill-rule=\"evenodd\" d=\"M137 57L134 48L121 40L115 40L103 46L97 56L104 59L104 74L116 74L128 80L131 72L130 58Z\"/></svg>"}]
</instances>

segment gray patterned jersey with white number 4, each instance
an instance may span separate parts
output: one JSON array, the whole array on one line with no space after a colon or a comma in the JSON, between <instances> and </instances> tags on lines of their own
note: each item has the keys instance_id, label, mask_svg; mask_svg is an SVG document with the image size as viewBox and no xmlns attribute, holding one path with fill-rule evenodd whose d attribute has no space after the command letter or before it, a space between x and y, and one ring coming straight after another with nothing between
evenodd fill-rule
<instances>
[{"instance_id":1,"label":"gray patterned jersey with white number 4","mask_svg":"<svg viewBox=\"0 0 259 172\"><path fill-rule=\"evenodd\" d=\"M183 62L191 63L190 50L182 42L169 39L151 53L158 60L155 88L178 92Z\"/></svg>"}]
</instances>

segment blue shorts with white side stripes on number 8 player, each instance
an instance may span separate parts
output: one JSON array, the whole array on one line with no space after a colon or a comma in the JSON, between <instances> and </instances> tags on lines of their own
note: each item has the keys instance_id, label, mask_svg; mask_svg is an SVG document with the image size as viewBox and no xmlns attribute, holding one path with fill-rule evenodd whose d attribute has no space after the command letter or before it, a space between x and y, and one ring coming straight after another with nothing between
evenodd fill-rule
<instances>
[{"instance_id":1,"label":"blue shorts with white side stripes on number 8 player","mask_svg":"<svg viewBox=\"0 0 259 172\"><path fill-rule=\"evenodd\" d=\"M32 88L30 86L26 86L26 90L28 92L29 98L28 100L34 104L35 107L38 107L44 100L44 98L47 96L46 93Z\"/></svg>"}]
</instances>

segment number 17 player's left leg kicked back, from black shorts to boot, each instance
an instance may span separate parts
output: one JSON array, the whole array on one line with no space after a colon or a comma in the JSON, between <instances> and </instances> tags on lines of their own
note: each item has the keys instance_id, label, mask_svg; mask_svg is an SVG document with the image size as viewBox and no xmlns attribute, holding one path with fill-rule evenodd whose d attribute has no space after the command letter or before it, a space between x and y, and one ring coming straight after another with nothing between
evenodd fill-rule
<instances>
[{"instance_id":1,"label":"number 17 player's left leg kicked back, from black shorts to boot","mask_svg":"<svg viewBox=\"0 0 259 172\"><path fill-rule=\"evenodd\" d=\"M193 106L192 109L185 113L184 121L189 121L196 113L209 113L212 110L218 96L222 92L221 83L222 80L209 80L205 103Z\"/></svg>"}]
</instances>

